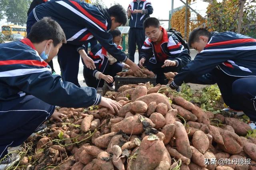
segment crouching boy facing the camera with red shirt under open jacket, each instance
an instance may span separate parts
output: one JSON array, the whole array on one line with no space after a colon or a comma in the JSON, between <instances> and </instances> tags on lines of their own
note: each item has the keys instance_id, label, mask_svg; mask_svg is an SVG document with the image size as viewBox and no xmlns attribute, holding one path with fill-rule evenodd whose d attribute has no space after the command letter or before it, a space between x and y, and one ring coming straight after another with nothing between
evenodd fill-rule
<instances>
[{"instance_id":1,"label":"crouching boy facing the camera with red shirt under open jacket","mask_svg":"<svg viewBox=\"0 0 256 170\"><path fill-rule=\"evenodd\" d=\"M165 72L179 72L191 61L188 50L173 33L166 32L156 18L147 18L143 28L148 38L142 46L139 66L154 72L156 83L167 84Z\"/></svg>"}]
</instances>

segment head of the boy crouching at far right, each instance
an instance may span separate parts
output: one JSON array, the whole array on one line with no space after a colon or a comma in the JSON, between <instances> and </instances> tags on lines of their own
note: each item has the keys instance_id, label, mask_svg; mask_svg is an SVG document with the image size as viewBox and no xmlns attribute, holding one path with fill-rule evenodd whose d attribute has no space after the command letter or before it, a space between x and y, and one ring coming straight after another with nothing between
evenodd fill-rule
<instances>
[{"instance_id":1,"label":"head of the boy crouching at far right","mask_svg":"<svg viewBox=\"0 0 256 170\"><path fill-rule=\"evenodd\" d=\"M208 43L209 36L210 32L205 28L196 28L189 35L188 45L200 52Z\"/></svg>"}]
</instances>

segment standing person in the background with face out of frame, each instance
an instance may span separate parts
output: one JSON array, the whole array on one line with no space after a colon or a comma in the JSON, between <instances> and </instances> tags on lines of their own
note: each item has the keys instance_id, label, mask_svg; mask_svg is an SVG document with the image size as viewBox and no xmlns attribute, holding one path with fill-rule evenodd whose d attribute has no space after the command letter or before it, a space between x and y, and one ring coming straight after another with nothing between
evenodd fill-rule
<instances>
[{"instance_id":1,"label":"standing person in the background with face out of frame","mask_svg":"<svg viewBox=\"0 0 256 170\"><path fill-rule=\"evenodd\" d=\"M128 53L129 58L134 62L134 54L136 51L136 44L138 46L139 56L141 48L145 41L145 32L143 30L143 22L150 14L153 13L153 6L150 0L133 0L127 9L129 21L129 35L128 35Z\"/></svg>"}]
</instances>

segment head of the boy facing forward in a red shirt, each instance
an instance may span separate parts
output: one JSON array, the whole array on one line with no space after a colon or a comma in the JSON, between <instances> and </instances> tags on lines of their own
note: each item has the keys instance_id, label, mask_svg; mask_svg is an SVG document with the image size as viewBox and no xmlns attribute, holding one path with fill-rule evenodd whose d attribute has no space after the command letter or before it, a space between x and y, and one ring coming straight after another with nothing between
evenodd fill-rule
<instances>
[{"instance_id":1,"label":"head of the boy facing forward in a red shirt","mask_svg":"<svg viewBox=\"0 0 256 170\"><path fill-rule=\"evenodd\" d=\"M161 34L161 28L160 28L160 22L158 19L154 17L149 17L143 22L143 28L145 30L145 34L150 40L153 42L158 41L160 34Z\"/></svg>"}]
</instances>

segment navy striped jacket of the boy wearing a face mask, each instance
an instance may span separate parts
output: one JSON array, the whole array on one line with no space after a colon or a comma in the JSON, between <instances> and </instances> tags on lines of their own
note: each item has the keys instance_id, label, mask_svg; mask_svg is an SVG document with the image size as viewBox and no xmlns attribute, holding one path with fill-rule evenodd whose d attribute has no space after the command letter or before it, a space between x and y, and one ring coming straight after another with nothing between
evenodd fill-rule
<instances>
[{"instance_id":1,"label":"navy striped jacket of the boy wearing a face mask","mask_svg":"<svg viewBox=\"0 0 256 170\"><path fill-rule=\"evenodd\" d=\"M101 101L95 88L78 88L52 75L27 38L0 44L0 102L25 95L64 107L88 107Z\"/></svg>"}]
</instances>

